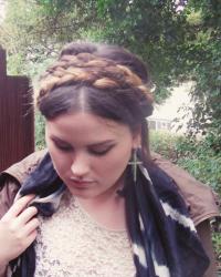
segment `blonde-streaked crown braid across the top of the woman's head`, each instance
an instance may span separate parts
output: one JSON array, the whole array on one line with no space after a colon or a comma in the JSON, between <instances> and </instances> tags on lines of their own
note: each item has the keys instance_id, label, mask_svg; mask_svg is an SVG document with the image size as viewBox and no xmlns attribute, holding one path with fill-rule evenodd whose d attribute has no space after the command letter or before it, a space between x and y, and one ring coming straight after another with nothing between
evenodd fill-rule
<instances>
[{"instance_id":1,"label":"blonde-streaked crown braid across the top of the woman's head","mask_svg":"<svg viewBox=\"0 0 221 277\"><path fill-rule=\"evenodd\" d=\"M40 80L36 105L54 89L85 84L99 90L134 89L140 101L152 103L152 95L141 79L128 66L92 53L64 54L50 66Z\"/></svg>"}]
</instances>

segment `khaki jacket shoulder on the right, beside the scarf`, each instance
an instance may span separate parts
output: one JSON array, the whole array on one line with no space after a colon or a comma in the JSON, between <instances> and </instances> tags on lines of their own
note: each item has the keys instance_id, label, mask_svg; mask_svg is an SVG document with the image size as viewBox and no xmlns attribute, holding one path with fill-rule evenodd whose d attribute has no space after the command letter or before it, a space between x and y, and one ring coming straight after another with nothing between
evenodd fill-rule
<instances>
[{"instance_id":1,"label":"khaki jacket shoulder on the right, beside the scarf","mask_svg":"<svg viewBox=\"0 0 221 277\"><path fill-rule=\"evenodd\" d=\"M178 193L185 199L196 226L219 216L218 198L209 186L156 153L152 153L152 161L177 185Z\"/></svg>"}]
</instances>

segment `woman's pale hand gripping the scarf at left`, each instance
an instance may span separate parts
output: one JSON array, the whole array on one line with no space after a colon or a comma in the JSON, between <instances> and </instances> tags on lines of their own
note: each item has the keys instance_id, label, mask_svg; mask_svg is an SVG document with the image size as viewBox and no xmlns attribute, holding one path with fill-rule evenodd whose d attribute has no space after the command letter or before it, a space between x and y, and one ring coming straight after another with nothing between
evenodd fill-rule
<instances>
[{"instance_id":1,"label":"woman's pale hand gripping the scarf at left","mask_svg":"<svg viewBox=\"0 0 221 277\"><path fill-rule=\"evenodd\" d=\"M36 237L38 209L27 205L34 195L18 199L0 220L0 267L17 258Z\"/></svg>"}]
</instances>

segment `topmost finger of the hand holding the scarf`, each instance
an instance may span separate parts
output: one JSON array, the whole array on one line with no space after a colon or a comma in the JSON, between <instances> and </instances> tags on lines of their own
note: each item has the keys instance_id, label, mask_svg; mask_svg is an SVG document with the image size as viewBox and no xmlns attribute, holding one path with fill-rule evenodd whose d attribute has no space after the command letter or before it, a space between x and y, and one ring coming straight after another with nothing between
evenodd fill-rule
<instances>
[{"instance_id":1,"label":"topmost finger of the hand holding the scarf","mask_svg":"<svg viewBox=\"0 0 221 277\"><path fill-rule=\"evenodd\" d=\"M35 195L30 194L19 198L11 208L6 213L6 215L1 218L1 220L10 220L17 217L27 205L34 198Z\"/></svg>"}]
</instances>

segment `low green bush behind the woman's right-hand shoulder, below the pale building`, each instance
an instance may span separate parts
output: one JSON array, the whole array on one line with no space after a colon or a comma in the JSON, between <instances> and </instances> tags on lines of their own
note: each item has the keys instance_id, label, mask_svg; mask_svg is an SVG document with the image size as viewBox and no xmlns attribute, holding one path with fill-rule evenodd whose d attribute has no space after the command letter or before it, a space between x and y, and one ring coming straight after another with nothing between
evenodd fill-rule
<instances>
[{"instance_id":1,"label":"low green bush behind the woman's right-hand shoulder, below the pale building","mask_svg":"<svg viewBox=\"0 0 221 277\"><path fill-rule=\"evenodd\" d=\"M221 153L210 146L208 137L198 141L167 132L151 132L150 146L221 196Z\"/></svg>"}]
</instances>

